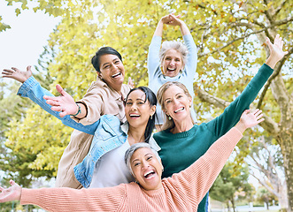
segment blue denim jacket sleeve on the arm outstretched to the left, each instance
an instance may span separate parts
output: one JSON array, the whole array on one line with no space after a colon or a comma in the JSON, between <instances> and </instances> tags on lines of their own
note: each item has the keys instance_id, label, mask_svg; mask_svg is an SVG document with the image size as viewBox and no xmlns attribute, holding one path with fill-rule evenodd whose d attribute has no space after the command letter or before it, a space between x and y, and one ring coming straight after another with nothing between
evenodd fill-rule
<instances>
[{"instance_id":1,"label":"blue denim jacket sleeve on the arm outstretched to the left","mask_svg":"<svg viewBox=\"0 0 293 212\"><path fill-rule=\"evenodd\" d=\"M94 134L96 131L96 125L98 122L92 125L81 125L76 123L69 115L66 117L60 117L58 111L51 110L50 104L43 99L44 95L54 96L48 91L47 89L41 87L40 83L35 80L34 77L30 77L27 79L20 87L18 91L18 95L22 97L28 97L30 100L38 104L42 110L47 111L50 115L57 117L59 120L62 121L64 125L70 126L73 129L79 130L83 133Z\"/></svg>"}]
</instances>

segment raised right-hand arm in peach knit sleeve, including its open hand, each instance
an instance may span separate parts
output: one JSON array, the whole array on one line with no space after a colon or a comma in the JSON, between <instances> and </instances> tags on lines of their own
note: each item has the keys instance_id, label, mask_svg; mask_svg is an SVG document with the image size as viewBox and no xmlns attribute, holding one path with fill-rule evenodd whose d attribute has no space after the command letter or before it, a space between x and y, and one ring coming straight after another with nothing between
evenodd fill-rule
<instances>
[{"instance_id":1,"label":"raised right-hand arm in peach knit sleeve, including its open hand","mask_svg":"<svg viewBox=\"0 0 293 212\"><path fill-rule=\"evenodd\" d=\"M180 182L178 186L185 190L190 201L195 201L195 205L197 205L204 198L235 145L243 137L242 133L263 120L261 110L253 112L245 110L239 123L214 142L203 156L186 170L173 175L172 178L178 178Z\"/></svg>"}]
</instances>

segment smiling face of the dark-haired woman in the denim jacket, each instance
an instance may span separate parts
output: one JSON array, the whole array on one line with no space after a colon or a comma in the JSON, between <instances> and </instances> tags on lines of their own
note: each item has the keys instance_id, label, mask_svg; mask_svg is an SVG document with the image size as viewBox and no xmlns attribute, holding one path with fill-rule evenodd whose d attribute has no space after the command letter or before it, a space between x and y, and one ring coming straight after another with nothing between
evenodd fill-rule
<instances>
[{"instance_id":1,"label":"smiling face of the dark-haired woman in the denim jacket","mask_svg":"<svg viewBox=\"0 0 293 212\"><path fill-rule=\"evenodd\" d=\"M137 89L127 96L125 114L129 127L143 127L148 124L150 116L154 115L156 106L150 106L150 102L145 100L145 94Z\"/></svg>"}]
</instances>

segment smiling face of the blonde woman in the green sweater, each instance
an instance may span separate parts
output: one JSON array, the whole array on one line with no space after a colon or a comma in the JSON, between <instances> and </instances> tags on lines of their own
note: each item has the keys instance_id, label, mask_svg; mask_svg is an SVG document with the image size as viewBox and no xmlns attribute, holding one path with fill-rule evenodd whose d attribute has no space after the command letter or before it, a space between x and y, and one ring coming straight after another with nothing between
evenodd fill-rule
<instances>
[{"instance_id":1,"label":"smiling face of the blonde woman in the green sweater","mask_svg":"<svg viewBox=\"0 0 293 212\"><path fill-rule=\"evenodd\" d=\"M175 122L189 120L192 98L184 93L181 87L171 86L163 94L164 112Z\"/></svg>"}]
</instances>

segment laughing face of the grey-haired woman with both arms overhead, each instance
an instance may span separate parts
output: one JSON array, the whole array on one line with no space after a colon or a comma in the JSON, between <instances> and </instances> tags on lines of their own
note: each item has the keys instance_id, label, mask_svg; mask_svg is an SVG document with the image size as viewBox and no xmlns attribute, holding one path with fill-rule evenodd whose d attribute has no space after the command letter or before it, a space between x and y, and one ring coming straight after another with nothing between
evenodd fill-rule
<instances>
[{"instance_id":1,"label":"laughing face of the grey-haired woman with both arms overhead","mask_svg":"<svg viewBox=\"0 0 293 212\"><path fill-rule=\"evenodd\" d=\"M183 68L181 53L175 49L167 50L161 65L165 76L177 76Z\"/></svg>"}]
</instances>

